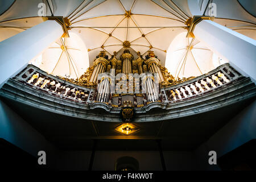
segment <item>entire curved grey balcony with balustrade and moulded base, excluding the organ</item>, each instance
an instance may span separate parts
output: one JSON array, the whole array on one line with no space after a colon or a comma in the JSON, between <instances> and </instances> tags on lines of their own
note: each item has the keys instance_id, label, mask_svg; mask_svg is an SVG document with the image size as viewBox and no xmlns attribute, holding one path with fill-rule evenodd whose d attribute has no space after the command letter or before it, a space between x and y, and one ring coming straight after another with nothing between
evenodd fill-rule
<instances>
[{"instance_id":1,"label":"entire curved grey balcony with balustrade and moulded base, excluding the organ","mask_svg":"<svg viewBox=\"0 0 256 182\"><path fill-rule=\"evenodd\" d=\"M28 65L10 78L1 88L0 95L59 114L98 121L103 118L104 121L121 121L121 107L113 106L113 102L96 102L97 88L73 84L34 65ZM118 95L123 97L122 94L112 94L110 100L114 101ZM249 77L242 76L229 64L223 64L192 80L159 88L160 101L148 102L144 94L134 94L133 98L139 101L139 104L134 104L137 113L134 121L162 121L204 113L255 95L255 84ZM162 111L156 114L149 112L151 109Z\"/></svg>"}]
</instances>

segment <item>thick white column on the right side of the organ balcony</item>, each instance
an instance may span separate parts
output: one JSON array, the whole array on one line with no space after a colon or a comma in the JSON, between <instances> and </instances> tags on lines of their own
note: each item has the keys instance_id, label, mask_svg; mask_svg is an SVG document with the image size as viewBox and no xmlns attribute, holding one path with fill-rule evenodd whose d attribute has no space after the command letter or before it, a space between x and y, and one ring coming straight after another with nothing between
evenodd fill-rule
<instances>
[{"instance_id":1,"label":"thick white column on the right side of the organ balcony","mask_svg":"<svg viewBox=\"0 0 256 182\"><path fill-rule=\"evenodd\" d=\"M256 41L211 20L202 20L193 31L196 39L225 57L242 75L256 80Z\"/></svg>"}]
</instances>

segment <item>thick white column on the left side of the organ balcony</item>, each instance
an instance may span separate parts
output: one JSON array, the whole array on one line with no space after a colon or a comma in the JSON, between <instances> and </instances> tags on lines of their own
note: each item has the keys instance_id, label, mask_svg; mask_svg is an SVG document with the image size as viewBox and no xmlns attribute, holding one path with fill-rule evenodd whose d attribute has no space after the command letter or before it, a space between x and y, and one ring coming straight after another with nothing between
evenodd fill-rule
<instances>
[{"instance_id":1,"label":"thick white column on the left side of the organ balcony","mask_svg":"<svg viewBox=\"0 0 256 182\"><path fill-rule=\"evenodd\" d=\"M59 23L47 20L0 42L0 87L62 34Z\"/></svg>"}]
</instances>

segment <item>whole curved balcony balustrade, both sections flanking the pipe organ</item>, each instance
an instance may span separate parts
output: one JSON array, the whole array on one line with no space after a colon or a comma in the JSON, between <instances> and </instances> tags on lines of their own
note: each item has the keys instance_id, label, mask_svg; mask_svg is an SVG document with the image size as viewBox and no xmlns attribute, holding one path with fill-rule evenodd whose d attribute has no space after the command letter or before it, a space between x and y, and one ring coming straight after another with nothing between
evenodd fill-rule
<instances>
[{"instance_id":1,"label":"whole curved balcony balustrade, both sections flanking the pipe organ","mask_svg":"<svg viewBox=\"0 0 256 182\"><path fill-rule=\"evenodd\" d=\"M159 88L160 101L157 102L158 104L159 102L162 104L171 104L200 97L231 85L242 78L245 77L229 64L223 64L213 71L193 78L192 80L172 85L167 88ZM97 95L96 89L85 88L84 86L65 81L63 78L49 75L34 65L28 65L13 79L44 93L63 98L64 100L80 102L82 104L98 103L95 101ZM118 97L116 97L116 95ZM112 94L112 97L110 97L112 102L106 101L104 103L109 105L108 107L112 106L113 108L121 106L122 97L119 95L120 94ZM135 107L143 107L154 103L146 102L144 94L133 95L134 100L132 100Z\"/></svg>"}]
</instances>

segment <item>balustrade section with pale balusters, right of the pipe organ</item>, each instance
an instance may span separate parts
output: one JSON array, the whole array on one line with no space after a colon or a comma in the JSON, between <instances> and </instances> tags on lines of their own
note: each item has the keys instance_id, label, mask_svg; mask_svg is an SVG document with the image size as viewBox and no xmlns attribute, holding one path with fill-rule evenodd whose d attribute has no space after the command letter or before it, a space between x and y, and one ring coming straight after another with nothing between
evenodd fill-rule
<instances>
[{"instance_id":1,"label":"balustrade section with pale balusters, right of the pipe organ","mask_svg":"<svg viewBox=\"0 0 256 182\"><path fill-rule=\"evenodd\" d=\"M168 88L160 89L162 102L180 102L212 93L244 78L228 63L201 75Z\"/></svg>"}]
</instances>

